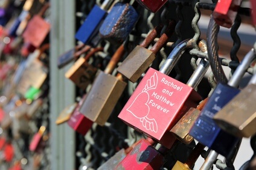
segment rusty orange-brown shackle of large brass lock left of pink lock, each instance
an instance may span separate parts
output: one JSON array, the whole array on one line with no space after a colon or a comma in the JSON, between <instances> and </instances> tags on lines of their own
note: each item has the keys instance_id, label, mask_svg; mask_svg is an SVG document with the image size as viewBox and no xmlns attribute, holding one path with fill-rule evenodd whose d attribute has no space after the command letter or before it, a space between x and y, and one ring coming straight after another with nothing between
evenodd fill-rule
<instances>
[{"instance_id":1,"label":"rusty orange-brown shackle of large brass lock left of pink lock","mask_svg":"<svg viewBox=\"0 0 256 170\"><path fill-rule=\"evenodd\" d=\"M114 71L118 61L120 61L120 58L123 56L123 54L124 54L124 45L121 44L121 46L118 47L117 51L114 53L114 55L110 59L109 64L107 64L107 67L105 68L104 73L111 74Z\"/></svg>"}]
</instances>

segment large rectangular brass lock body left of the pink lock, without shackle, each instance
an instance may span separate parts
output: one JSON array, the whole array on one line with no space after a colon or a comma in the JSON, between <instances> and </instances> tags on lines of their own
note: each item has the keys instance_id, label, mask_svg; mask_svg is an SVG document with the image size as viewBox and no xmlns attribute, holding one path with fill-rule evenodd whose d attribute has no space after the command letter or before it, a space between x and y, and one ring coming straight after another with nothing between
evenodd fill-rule
<instances>
[{"instance_id":1,"label":"large rectangular brass lock body left of the pink lock, without shackle","mask_svg":"<svg viewBox=\"0 0 256 170\"><path fill-rule=\"evenodd\" d=\"M125 87L126 82L100 71L80 112L89 120L104 126Z\"/></svg>"}]
</instances>

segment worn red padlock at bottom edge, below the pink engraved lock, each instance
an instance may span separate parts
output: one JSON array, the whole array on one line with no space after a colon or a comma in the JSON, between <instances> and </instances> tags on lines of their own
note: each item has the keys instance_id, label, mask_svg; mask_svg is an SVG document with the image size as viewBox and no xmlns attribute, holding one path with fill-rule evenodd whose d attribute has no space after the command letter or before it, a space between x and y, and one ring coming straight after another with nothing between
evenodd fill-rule
<instances>
[{"instance_id":1,"label":"worn red padlock at bottom edge, below the pink engraved lock","mask_svg":"<svg viewBox=\"0 0 256 170\"><path fill-rule=\"evenodd\" d=\"M159 169L165 160L163 154L156 150L153 144L155 142L149 138L142 139L115 169Z\"/></svg>"}]
</instances>

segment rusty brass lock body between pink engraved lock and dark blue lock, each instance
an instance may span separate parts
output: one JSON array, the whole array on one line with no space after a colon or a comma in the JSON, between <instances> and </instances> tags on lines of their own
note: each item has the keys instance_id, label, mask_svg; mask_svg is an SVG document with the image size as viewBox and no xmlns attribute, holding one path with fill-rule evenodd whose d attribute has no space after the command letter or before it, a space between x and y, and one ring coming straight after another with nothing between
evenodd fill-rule
<instances>
[{"instance_id":1,"label":"rusty brass lock body between pink engraved lock and dark blue lock","mask_svg":"<svg viewBox=\"0 0 256 170\"><path fill-rule=\"evenodd\" d=\"M186 114L178 121L177 124L171 129L171 133L173 133L179 141L184 144L190 144L193 141L193 137L188 134L190 132L191 127L194 122L199 117L200 111L195 108L190 108Z\"/></svg>"}]
</instances>

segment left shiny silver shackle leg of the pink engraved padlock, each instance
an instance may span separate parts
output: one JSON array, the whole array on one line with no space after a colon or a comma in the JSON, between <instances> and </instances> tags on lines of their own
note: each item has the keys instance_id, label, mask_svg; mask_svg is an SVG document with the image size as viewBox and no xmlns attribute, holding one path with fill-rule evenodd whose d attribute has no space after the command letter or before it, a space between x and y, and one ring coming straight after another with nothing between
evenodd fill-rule
<instances>
[{"instance_id":1,"label":"left shiny silver shackle leg of the pink engraved padlock","mask_svg":"<svg viewBox=\"0 0 256 170\"><path fill-rule=\"evenodd\" d=\"M190 41L190 39L181 41L181 43L174 47L174 49L171 51L170 55L168 55L162 67L159 69L159 72L167 75L170 74L171 70L173 70L174 65L177 64L179 58L181 58L185 50L187 50L188 48L192 48L192 44L189 43Z\"/></svg>"}]
</instances>

